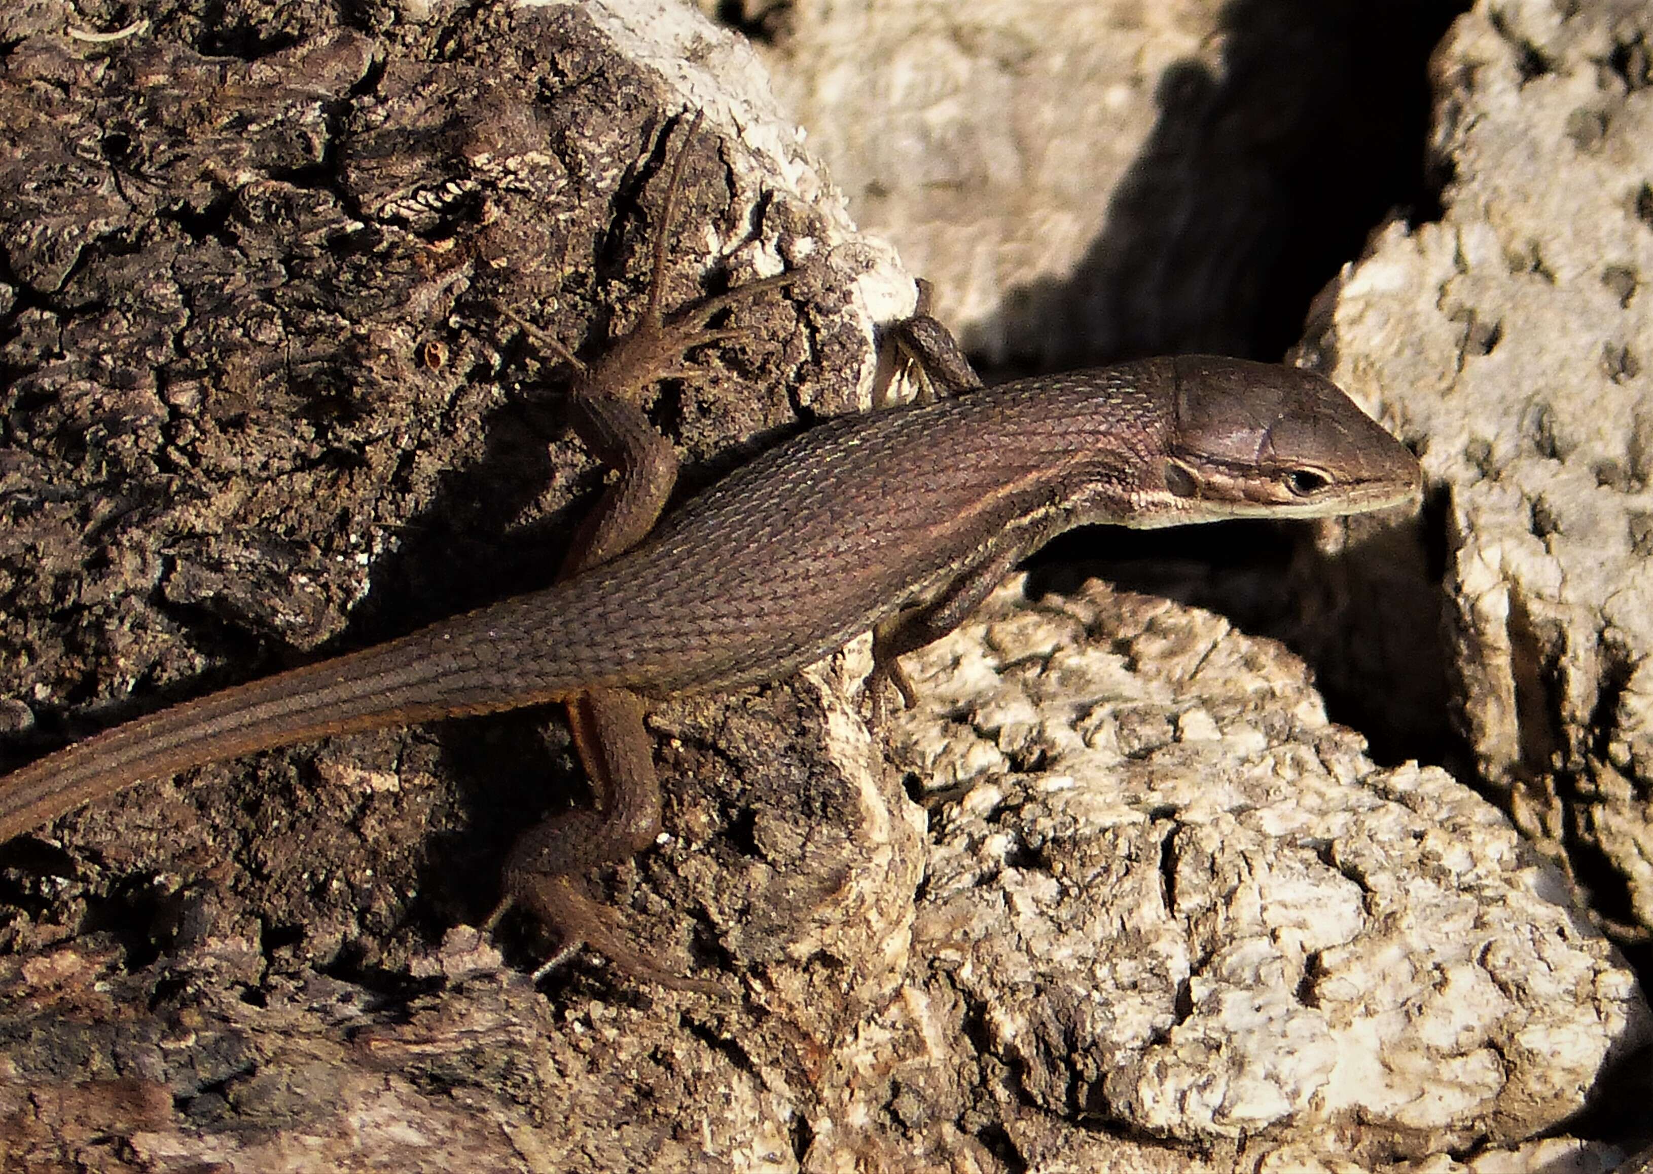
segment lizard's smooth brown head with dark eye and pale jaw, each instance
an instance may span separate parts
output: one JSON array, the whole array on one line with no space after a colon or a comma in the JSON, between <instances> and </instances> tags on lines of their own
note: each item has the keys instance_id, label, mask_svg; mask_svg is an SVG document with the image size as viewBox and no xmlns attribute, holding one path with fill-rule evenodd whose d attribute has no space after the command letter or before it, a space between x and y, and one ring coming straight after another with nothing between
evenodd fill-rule
<instances>
[{"instance_id":1,"label":"lizard's smooth brown head with dark eye and pale jaw","mask_svg":"<svg viewBox=\"0 0 1653 1174\"><path fill-rule=\"evenodd\" d=\"M1418 459L1331 380L1210 355L1159 362L1175 386L1165 489L1185 515L1329 517L1418 497Z\"/></svg>"}]
</instances>

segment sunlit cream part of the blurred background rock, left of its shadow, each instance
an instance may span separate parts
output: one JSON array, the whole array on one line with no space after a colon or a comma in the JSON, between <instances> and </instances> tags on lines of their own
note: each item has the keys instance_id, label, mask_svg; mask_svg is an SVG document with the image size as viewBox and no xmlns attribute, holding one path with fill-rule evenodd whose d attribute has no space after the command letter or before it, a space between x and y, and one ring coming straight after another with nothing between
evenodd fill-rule
<instances>
[{"instance_id":1,"label":"sunlit cream part of the blurred background rock, left of its shadow","mask_svg":"<svg viewBox=\"0 0 1653 1174\"><path fill-rule=\"evenodd\" d=\"M1222 71L1220 8L828 2L793 15L765 56L856 220L936 284L960 340L992 360L1073 365L1078 340L1117 353L1174 330L1160 315L1197 312L1164 297L1170 282L1184 301L1210 297L1203 272L1152 281L1141 267L1177 216L1121 215L1108 193L1154 140L1167 71ZM1160 163L1142 187L1175 200L1187 188L1164 172L1193 159ZM1104 254L1088 256L1104 230Z\"/></svg>"}]
</instances>

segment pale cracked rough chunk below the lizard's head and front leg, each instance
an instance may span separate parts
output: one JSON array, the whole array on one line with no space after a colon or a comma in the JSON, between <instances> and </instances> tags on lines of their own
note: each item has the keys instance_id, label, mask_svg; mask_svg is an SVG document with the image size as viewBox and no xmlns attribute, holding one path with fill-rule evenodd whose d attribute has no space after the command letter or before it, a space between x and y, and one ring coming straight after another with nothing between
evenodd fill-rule
<instances>
[{"instance_id":1,"label":"pale cracked rough chunk below the lizard's head and front leg","mask_svg":"<svg viewBox=\"0 0 1653 1174\"><path fill-rule=\"evenodd\" d=\"M1377 769L1301 662L1091 585L914 657L914 944L1051 1115L1425 1157L1551 1129L1648 1040L1559 873L1445 771ZM1271 1148L1271 1146L1270 1146Z\"/></svg>"}]
</instances>

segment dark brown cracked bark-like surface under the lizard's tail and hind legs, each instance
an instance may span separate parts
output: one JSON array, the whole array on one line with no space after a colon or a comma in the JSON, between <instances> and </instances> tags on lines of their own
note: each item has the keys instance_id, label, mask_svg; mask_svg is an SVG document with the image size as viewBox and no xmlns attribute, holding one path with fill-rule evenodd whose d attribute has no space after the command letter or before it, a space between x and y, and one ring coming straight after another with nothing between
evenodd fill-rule
<instances>
[{"instance_id":1,"label":"dark brown cracked bark-like surface under the lizard's tail and hind legs","mask_svg":"<svg viewBox=\"0 0 1653 1174\"><path fill-rule=\"evenodd\" d=\"M688 106L666 305L818 274L661 393L689 487L869 406L873 320L911 281L760 89L709 81L750 68L737 40L650 5L426 17L375 36L251 5L208 33L180 8L116 41L68 36L64 5L3 18L10 755L545 581L603 474L499 307L577 350L628 325ZM226 46L238 20L258 36ZM850 971L904 913L845 885L911 892L917 860L865 730L826 736L843 694L663 710L663 768L698 779L679 850L612 878L661 949L823 954L765 989L833 1032L891 982ZM560 720L524 713L195 771L10 845L5 1164L689 1169L759 1144L785 1115L727 1009L679 1022L590 963L547 1001L542 936L507 933L507 964L464 928L559 791ZM765 1065L830 1050L779 1022ZM691 1095L727 1111L684 1133Z\"/></svg>"}]
</instances>

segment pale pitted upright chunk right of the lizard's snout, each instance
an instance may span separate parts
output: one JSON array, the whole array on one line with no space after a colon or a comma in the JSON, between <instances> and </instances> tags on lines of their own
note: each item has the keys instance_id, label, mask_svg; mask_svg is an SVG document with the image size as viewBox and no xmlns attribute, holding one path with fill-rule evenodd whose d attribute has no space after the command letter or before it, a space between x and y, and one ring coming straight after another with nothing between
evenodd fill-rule
<instances>
[{"instance_id":1,"label":"pale pitted upright chunk right of the lizard's snout","mask_svg":"<svg viewBox=\"0 0 1653 1174\"><path fill-rule=\"evenodd\" d=\"M1435 61L1445 213L1374 241L1319 342L1441 485L1481 776L1632 935L1653 926L1650 36L1645 5L1460 20Z\"/></svg>"}]
</instances>

